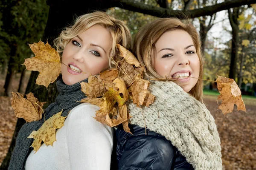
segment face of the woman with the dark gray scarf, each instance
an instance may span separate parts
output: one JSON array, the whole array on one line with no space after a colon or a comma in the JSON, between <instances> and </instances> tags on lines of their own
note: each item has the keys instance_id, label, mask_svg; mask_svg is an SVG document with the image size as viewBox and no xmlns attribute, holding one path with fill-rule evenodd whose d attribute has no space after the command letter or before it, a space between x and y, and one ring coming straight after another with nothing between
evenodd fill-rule
<instances>
[{"instance_id":1,"label":"face of the woman with the dark gray scarf","mask_svg":"<svg viewBox=\"0 0 256 170\"><path fill-rule=\"evenodd\" d=\"M111 46L110 32L100 25L92 26L71 39L62 54L65 65L61 64L61 74L64 83L73 85L87 79L90 74L97 75L108 68Z\"/></svg>"}]
</instances>

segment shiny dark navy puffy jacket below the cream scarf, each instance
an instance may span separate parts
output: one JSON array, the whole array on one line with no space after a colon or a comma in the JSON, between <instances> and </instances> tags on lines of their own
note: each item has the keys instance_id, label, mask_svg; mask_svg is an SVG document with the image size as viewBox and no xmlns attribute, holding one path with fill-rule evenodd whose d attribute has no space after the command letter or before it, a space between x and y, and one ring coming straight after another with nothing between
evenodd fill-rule
<instances>
[{"instance_id":1,"label":"shiny dark navy puffy jacket below the cream scarf","mask_svg":"<svg viewBox=\"0 0 256 170\"><path fill-rule=\"evenodd\" d=\"M164 136L137 125L129 125L130 133L116 130L119 170L194 170Z\"/></svg>"}]
</instances>

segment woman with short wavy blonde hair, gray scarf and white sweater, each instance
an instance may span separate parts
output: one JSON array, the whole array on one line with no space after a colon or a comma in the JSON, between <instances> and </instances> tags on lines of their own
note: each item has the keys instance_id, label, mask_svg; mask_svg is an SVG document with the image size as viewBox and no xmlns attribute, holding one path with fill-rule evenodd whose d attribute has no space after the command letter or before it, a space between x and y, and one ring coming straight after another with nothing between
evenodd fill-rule
<instances>
[{"instance_id":1,"label":"woman with short wavy blonde hair, gray scarf and white sweater","mask_svg":"<svg viewBox=\"0 0 256 170\"><path fill-rule=\"evenodd\" d=\"M112 58L117 57L116 44L131 48L129 29L124 22L97 11L78 17L54 44L62 62L57 81L60 94L40 121L20 129L9 170L110 170L113 128L93 119L98 106L77 101L87 97L80 82L111 67ZM61 116L67 118L55 133L56 141L32 151L30 133L62 109Z\"/></svg>"}]
</instances>

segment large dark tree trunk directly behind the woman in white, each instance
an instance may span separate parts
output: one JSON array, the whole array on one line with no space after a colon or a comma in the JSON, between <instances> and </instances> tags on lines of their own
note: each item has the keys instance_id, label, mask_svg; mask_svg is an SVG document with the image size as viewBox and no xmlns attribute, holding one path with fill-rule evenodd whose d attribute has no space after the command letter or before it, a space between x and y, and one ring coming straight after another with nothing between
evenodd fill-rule
<instances>
[{"instance_id":1,"label":"large dark tree trunk directly behind the woman in white","mask_svg":"<svg viewBox=\"0 0 256 170\"><path fill-rule=\"evenodd\" d=\"M95 10L106 11L111 7L110 0L93 0L90 1L90 3L89 1L79 1L77 3L74 2L71 4L70 2L64 1L61 3L61 6L59 1L60 0L47 0L47 5L49 5L50 8L47 26L45 28L44 38L42 38L42 41L47 42L48 40L50 45L53 44L53 40L58 37L64 27L73 23L73 20L76 18L76 16L80 16L88 12L93 12ZM77 4L79 4L79 6ZM25 94L28 94L29 92L34 93L35 97L37 97L39 101L47 102L47 104L44 105L47 107L52 102L55 102L55 97L58 95L56 82L50 84L47 90L44 86L38 86L35 84L38 74L38 72L32 71ZM18 119L17 125L15 127L15 133L12 137L12 143L10 145L7 156L0 167L0 170L7 169L11 160L12 150L15 147L15 139L17 137L17 133L24 123L25 121L23 119Z\"/></svg>"}]
</instances>

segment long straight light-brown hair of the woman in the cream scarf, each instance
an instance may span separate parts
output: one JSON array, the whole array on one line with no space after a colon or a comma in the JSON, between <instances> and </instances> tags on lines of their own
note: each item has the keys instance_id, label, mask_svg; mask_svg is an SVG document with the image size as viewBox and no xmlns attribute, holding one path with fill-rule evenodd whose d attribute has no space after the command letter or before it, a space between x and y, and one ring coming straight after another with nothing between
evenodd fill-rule
<instances>
[{"instance_id":1,"label":"long straight light-brown hair of the woman in the cream scarf","mask_svg":"<svg viewBox=\"0 0 256 170\"><path fill-rule=\"evenodd\" d=\"M134 38L134 54L136 54L141 65L145 66L145 77L149 79L163 78L153 68L151 64L151 58L153 56L153 50L157 40L166 31L172 30L184 30L186 31L193 40L195 45L196 53L200 61L200 72L199 78L203 77L203 56L201 53L201 41L198 32L195 27L187 22L183 22L177 18L159 18L151 23L140 28ZM202 80L198 79L196 85L189 91L189 94L195 97L195 99L202 102L203 98L203 84Z\"/></svg>"}]
</instances>

